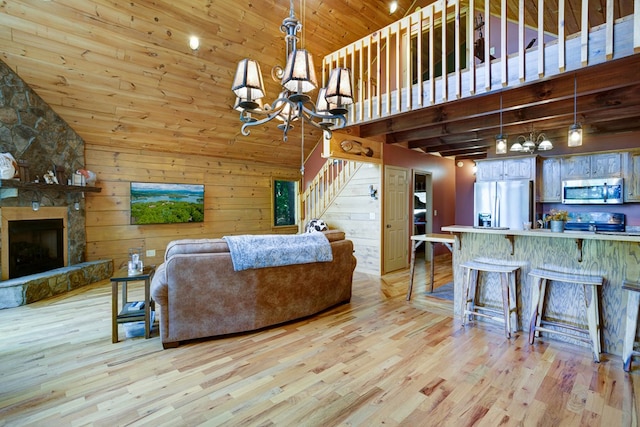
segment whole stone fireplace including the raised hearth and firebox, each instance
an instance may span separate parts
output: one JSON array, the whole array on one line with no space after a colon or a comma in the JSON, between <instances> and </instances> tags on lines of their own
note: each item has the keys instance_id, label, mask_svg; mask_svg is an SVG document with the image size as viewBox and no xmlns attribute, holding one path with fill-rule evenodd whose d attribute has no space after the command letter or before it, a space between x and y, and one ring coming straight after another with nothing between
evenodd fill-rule
<instances>
[{"instance_id":1,"label":"whole stone fireplace including the raised hearth and firebox","mask_svg":"<svg viewBox=\"0 0 640 427\"><path fill-rule=\"evenodd\" d=\"M19 171L13 179L0 183L0 309L29 304L110 277L112 260L86 261L84 193L89 190L66 185L71 174L85 167L84 140L2 61L0 153L10 153ZM51 170L59 185L45 183L43 178ZM35 211L34 201L40 206ZM62 220L61 236L60 230L53 235L47 230L45 236L33 237L34 228L51 228L49 220ZM34 223L24 221L45 221L45 225L34 227ZM18 240L22 241L18 247L29 248L28 261L41 264L55 258L50 269L21 277L10 273L12 263L17 263L9 253L9 225L14 222L24 222L17 225ZM21 256L22 263L24 254ZM60 260L62 266L55 268Z\"/></svg>"}]
</instances>

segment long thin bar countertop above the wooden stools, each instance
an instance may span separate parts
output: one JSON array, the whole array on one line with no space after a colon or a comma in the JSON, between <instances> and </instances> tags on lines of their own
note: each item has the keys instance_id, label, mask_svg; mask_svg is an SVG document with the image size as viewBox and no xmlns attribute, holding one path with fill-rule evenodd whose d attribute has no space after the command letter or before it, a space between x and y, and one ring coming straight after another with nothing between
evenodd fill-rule
<instances>
[{"instance_id":1,"label":"long thin bar countertop above the wooden stools","mask_svg":"<svg viewBox=\"0 0 640 427\"><path fill-rule=\"evenodd\" d=\"M549 229L540 228L535 228L532 230L511 230L503 228L472 227L469 225L449 225L446 227L442 227L441 230L448 231L450 233L480 233L498 234L504 236L551 237L555 239L614 240L640 243L640 233L610 234L606 232L567 230L562 233L554 233Z\"/></svg>"}]
</instances>

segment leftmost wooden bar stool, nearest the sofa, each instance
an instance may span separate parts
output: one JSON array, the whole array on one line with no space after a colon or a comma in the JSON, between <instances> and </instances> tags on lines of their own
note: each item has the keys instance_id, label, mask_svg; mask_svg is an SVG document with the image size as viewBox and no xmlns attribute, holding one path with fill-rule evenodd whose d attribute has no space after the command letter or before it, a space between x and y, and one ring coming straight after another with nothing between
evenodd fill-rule
<instances>
[{"instance_id":1,"label":"leftmost wooden bar stool, nearest the sofa","mask_svg":"<svg viewBox=\"0 0 640 427\"><path fill-rule=\"evenodd\" d=\"M465 269L462 289L462 325L471 321L473 316L482 316L504 323L504 332L507 338L511 338L511 332L518 323L518 309L516 304L516 272L520 269L517 265L501 265L484 261L472 260L462 263ZM502 312L499 310L480 306L476 301L479 273L498 273L502 287Z\"/></svg>"}]
</instances>

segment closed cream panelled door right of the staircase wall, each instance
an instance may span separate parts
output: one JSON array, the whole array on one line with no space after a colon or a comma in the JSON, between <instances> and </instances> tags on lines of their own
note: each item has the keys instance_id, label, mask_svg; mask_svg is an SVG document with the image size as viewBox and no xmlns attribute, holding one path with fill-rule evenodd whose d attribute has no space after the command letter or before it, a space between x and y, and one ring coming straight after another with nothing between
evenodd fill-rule
<instances>
[{"instance_id":1,"label":"closed cream panelled door right of the staircase wall","mask_svg":"<svg viewBox=\"0 0 640 427\"><path fill-rule=\"evenodd\" d=\"M408 266L409 171L384 169L384 265L383 273Z\"/></svg>"}]
</instances>

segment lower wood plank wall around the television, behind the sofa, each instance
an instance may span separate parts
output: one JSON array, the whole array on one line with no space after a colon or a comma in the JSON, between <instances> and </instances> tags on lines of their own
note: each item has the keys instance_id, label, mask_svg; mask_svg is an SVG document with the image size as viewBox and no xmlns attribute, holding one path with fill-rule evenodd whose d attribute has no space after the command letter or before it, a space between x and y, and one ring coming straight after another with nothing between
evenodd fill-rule
<instances>
[{"instance_id":1,"label":"lower wood plank wall around the television, behind the sofa","mask_svg":"<svg viewBox=\"0 0 640 427\"><path fill-rule=\"evenodd\" d=\"M111 258L118 268L129 248L141 247L156 251L145 263L159 265L175 239L297 232L297 227L271 227L272 179L299 179L296 168L92 144L86 147L86 166L102 187L101 193L85 194L89 261ZM130 225L131 181L204 184L204 222Z\"/></svg>"}]
</instances>

